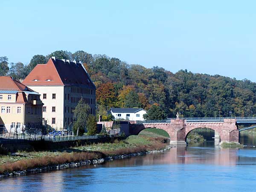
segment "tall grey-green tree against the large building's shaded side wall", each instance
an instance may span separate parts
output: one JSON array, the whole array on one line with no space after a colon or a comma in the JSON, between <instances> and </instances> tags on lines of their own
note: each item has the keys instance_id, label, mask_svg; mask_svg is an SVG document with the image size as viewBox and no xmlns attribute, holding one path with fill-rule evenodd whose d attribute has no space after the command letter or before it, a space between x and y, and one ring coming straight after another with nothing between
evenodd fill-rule
<instances>
[{"instance_id":1,"label":"tall grey-green tree against the large building's shaded side wall","mask_svg":"<svg viewBox=\"0 0 256 192\"><path fill-rule=\"evenodd\" d=\"M86 127L89 110L90 106L86 104L84 99L80 99L76 105L76 108L73 110L73 116L75 118L73 131L77 136L84 134L84 128Z\"/></svg>"}]
</instances>

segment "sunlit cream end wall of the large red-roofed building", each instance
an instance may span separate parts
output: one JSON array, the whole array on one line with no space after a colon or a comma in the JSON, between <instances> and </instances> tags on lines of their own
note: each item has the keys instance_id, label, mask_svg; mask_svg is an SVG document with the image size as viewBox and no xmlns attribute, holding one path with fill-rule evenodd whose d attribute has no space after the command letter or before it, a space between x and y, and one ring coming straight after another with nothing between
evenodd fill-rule
<instances>
[{"instance_id":1,"label":"sunlit cream end wall of the large red-roofed building","mask_svg":"<svg viewBox=\"0 0 256 192\"><path fill-rule=\"evenodd\" d=\"M27 86L32 90L41 94L40 99L46 107L46 112L43 112L44 120L47 120L47 125L55 129L62 129L64 126L64 86ZM44 93L47 94L47 99L43 99ZM56 94L56 99L52 99L52 93ZM52 107L55 107L55 112L52 112ZM55 124L52 124L52 118L55 118Z\"/></svg>"}]
</instances>

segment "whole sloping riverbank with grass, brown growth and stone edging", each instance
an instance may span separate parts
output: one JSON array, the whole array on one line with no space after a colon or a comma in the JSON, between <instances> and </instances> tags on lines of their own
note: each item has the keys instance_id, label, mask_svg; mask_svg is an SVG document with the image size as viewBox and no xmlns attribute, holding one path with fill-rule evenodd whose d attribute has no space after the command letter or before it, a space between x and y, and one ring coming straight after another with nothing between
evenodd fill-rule
<instances>
[{"instance_id":1,"label":"whole sloping riverbank with grass, brown growth and stone edging","mask_svg":"<svg viewBox=\"0 0 256 192\"><path fill-rule=\"evenodd\" d=\"M167 140L168 141L168 140ZM167 142L168 143L168 142ZM0 177L23 175L123 159L170 148L163 137L131 136L114 143L63 148L58 151L19 151L0 156Z\"/></svg>"}]
</instances>

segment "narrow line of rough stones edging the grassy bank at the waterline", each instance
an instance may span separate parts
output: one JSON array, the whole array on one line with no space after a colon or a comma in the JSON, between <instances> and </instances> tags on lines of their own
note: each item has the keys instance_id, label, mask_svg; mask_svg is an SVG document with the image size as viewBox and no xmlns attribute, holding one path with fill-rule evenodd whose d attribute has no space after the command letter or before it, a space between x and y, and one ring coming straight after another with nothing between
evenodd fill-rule
<instances>
[{"instance_id":1,"label":"narrow line of rough stones edging the grassy bank at the waterline","mask_svg":"<svg viewBox=\"0 0 256 192\"><path fill-rule=\"evenodd\" d=\"M172 148L171 145L169 145L168 147L166 147L165 149L162 149L162 150L153 150L153 151L147 151L147 152L122 154L122 155L116 155L116 156L109 156L109 157L105 157L105 158L101 158L101 159L84 160L84 161L79 161L79 162L63 163L63 164L60 164L60 165L38 167L38 168L27 169L27 170L23 170L23 171L8 172L6 174L0 175L0 178L8 177L8 176L11 177L11 176L24 175L24 174L27 174L27 173L47 172L47 171L65 169L65 168L72 168L72 167L90 165L90 164L93 164L94 166L96 166L97 164L104 163L105 161L112 161L112 160L116 160L116 159L125 159L125 158L128 158L128 157L135 157L135 156L140 156L140 155L144 155L144 154L151 154L151 153L163 153L163 152L169 150L170 148Z\"/></svg>"}]
</instances>

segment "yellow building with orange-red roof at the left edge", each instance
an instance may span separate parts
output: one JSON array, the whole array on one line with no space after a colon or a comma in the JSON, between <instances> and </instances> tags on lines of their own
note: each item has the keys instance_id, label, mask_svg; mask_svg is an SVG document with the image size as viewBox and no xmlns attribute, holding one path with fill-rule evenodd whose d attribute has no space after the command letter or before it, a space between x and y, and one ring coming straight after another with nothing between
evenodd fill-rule
<instances>
[{"instance_id":1,"label":"yellow building with orange-red roof at the left edge","mask_svg":"<svg viewBox=\"0 0 256 192\"><path fill-rule=\"evenodd\" d=\"M0 131L41 128L40 94L9 76L0 76Z\"/></svg>"}]
</instances>

